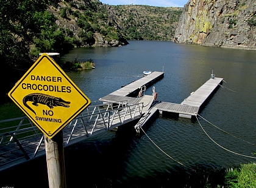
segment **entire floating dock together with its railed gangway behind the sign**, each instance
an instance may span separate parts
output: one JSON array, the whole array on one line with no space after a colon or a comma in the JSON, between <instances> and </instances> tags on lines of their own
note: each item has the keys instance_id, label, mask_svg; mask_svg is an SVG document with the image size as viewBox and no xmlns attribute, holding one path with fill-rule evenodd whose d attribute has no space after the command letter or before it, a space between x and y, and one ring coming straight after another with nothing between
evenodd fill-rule
<instances>
[{"instance_id":1,"label":"entire floating dock together with its railed gangway behind the sign","mask_svg":"<svg viewBox=\"0 0 256 188\"><path fill-rule=\"evenodd\" d=\"M180 104L156 101L155 88L152 95L143 95L142 89L162 79L163 72L152 72L115 92L99 99L102 106L88 106L68 126L63 129L64 146L70 146L88 138L132 121L135 129L140 130L159 113L191 118L201 110L205 101L215 92L222 78L211 78L199 89L192 92ZM137 96L137 97L135 97ZM117 104L117 106L116 106ZM24 163L27 160L44 155L44 136L27 117L2 120L0 123L18 121L13 130L2 129L0 132L0 170ZM20 121L20 123L19 123ZM25 128L23 128L25 126ZM12 127L10 127L12 128ZM16 135L29 133L29 136L16 138ZM24 134L25 135L25 134Z\"/></svg>"}]
</instances>

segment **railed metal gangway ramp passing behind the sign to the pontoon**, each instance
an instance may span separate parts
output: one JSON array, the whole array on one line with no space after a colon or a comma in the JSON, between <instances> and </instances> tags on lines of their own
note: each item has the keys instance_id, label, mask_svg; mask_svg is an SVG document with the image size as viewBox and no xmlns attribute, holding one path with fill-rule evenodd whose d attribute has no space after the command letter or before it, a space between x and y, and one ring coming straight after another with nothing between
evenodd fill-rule
<instances>
[{"instance_id":1,"label":"railed metal gangway ramp passing behind the sign to the pontoon","mask_svg":"<svg viewBox=\"0 0 256 188\"><path fill-rule=\"evenodd\" d=\"M64 147L141 118L142 109L142 102L127 101L88 106L63 129ZM27 116L0 125L0 171L45 154L44 135Z\"/></svg>"}]
</instances>

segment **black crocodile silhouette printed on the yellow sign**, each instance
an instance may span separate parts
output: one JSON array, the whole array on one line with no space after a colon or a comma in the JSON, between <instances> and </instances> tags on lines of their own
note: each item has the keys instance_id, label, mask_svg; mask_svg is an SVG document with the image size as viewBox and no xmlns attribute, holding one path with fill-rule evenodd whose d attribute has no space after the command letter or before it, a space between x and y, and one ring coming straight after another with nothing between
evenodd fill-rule
<instances>
[{"instance_id":1,"label":"black crocodile silhouette printed on the yellow sign","mask_svg":"<svg viewBox=\"0 0 256 188\"><path fill-rule=\"evenodd\" d=\"M32 102L34 106L38 106L39 103L48 106L50 109L53 109L55 106L69 107L68 104L70 104L69 101L64 101L60 97L46 95L43 93L30 93L29 95L24 96L23 104L33 113L35 113L35 111L27 104L28 101ZM35 115L37 115L37 113L35 113Z\"/></svg>"}]
</instances>

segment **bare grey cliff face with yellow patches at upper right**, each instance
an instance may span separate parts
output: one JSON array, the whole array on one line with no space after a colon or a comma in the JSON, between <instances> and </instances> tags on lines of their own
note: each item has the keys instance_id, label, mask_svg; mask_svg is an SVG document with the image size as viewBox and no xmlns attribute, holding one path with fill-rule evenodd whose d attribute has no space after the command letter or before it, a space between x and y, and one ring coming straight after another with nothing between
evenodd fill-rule
<instances>
[{"instance_id":1,"label":"bare grey cliff face with yellow patches at upper right","mask_svg":"<svg viewBox=\"0 0 256 188\"><path fill-rule=\"evenodd\" d=\"M174 42L256 49L255 0L190 0Z\"/></svg>"}]
</instances>

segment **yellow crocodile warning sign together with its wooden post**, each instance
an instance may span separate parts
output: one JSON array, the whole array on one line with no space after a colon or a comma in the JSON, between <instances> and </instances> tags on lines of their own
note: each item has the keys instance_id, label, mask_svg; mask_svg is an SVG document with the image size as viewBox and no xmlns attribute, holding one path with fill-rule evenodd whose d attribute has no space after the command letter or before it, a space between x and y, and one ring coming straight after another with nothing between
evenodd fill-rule
<instances>
[{"instance_id":1,"label":"yellow crocodile warning sign together with its wooden post","mask_svg":"<svg viewBox=\"0 0 256 188\"><path fill-rule=\"evenodd\" d=\"M90 99L47 53L8 95L44 133L49 187L66 187L62 129L91 104Z\"/></svg>"}]
</instances>

